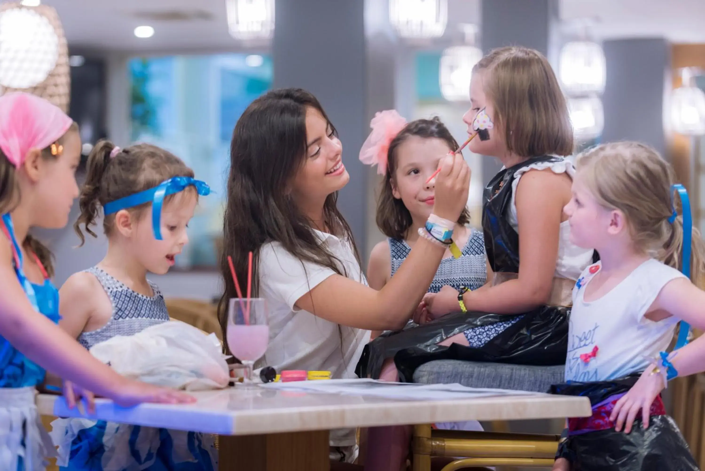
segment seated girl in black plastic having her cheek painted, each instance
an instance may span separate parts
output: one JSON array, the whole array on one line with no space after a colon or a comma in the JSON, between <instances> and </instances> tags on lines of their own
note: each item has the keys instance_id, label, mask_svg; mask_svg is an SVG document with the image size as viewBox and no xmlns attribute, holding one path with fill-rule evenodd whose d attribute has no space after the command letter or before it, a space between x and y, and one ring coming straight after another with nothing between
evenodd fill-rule
<instances>
[{"instance_id":1,"label":"seated girl in black plastic having her cheek painted","mask_svg":"<svg viewBox=\"0 0 705 471\"><path fill-rule=\"evenodd\" d=\"M482 226L494 275L478 290L427 294L416 316L423 326L369 345L362 368L372 377L390 357L407 381L417 366L440 358L565 362L570 293L593 258L591 249L570 242L563 214L575 172L560 157L573 148L565 99L546 58L523 47L496 49L479 61L470 97L464 121L477 135L470 150L503 165L484 190ZM510 388L511 381L497 386Z\"/></svg>"}]
</instances>

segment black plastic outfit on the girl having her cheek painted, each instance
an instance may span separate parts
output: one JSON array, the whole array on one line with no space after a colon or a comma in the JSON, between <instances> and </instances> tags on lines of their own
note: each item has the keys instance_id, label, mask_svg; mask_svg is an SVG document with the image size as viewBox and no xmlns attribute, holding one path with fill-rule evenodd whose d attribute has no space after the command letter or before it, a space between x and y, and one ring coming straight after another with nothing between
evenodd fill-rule
<instances>
[{"instance_id":1,"label":"black plastic outfit on the girl having her cheek painted","mask_svg":"<svg viewBox=\"0 0 705 471\"><path fill-rule=\"evenodd\" d=\"M487 258L495 273L519 272L519 234L507 215L512 198L512 181L517 170L537 162L554 162L561 157L537 157L503 169L484 189L482 228ZM541 306L522 314L489 314L470 311L448 314L422 326L384 333L370 342L357 365L360 377L379 378L384 360L394 358L400 381L412 381L420 365L437 359L500 362L551 366L565 363L568 347L570 308ZM479 348L453 344L437 345L446 338L491 323L517 322Z\"/></svg>"}]
</instances>

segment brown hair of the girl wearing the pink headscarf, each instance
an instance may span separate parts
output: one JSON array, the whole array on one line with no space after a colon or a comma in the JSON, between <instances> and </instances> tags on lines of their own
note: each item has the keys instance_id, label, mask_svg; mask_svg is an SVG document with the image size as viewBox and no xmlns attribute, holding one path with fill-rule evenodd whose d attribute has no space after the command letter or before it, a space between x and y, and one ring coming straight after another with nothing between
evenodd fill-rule
<instances>
[{"instance_id":1,"label":"brown hair of the girl wearing the pink headscarf","mask_svg":"<svg viewBox=\"0 0 705 471\"><path fill-rule=\"evenodd\" d=\"M62 144L68 133L78 132L78 124L71 124L68 131L59 138L56 143ZM42 149L42 158L46 160L56 159L56 155L51 153L51 146ZM0 214L11 213L20 203L20 186L17 180L17 168L0 149ZM44 266L49 278L54 276L54 255L47 246L39 242L30 234L27 234L22 241L25 250L35 254L39 262Z\"/></svg>"}]
</instances>

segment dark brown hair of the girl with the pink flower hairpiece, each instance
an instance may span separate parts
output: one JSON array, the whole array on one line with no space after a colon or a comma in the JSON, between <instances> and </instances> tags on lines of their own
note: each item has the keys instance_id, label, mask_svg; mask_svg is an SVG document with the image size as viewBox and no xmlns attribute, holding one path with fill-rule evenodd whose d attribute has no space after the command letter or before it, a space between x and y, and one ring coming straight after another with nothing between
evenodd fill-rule
<instances>
[{"instance_id":1,"label":"dark brown hair of the girl with the pink flower hairpiece","mask_svg":"<svg viewBox=\"0 0 705 471\"><path fill-rule=\"evenodd\" d=\"M404 126L404 129L389 143L389 149L387 151L387 172L384 175L384 180L382 181L379 191L379 198L377 200L376 222L379 230L392 239L404 239L407 237L407 232L412 225L411 213L409 213L409 210L401 199L394 197L392 190L392 186L396 185L395 178L399 146L405 143L411 136L441 139L453 152L459 148L458 142L455 141L455 138L450 134L446 125L443 124L438 117L411 121ZM458 217L458 224L466 225L468 222L470 222L470 212L467 208L463 208L460 217Z\"/></svg>"}]
</instances>

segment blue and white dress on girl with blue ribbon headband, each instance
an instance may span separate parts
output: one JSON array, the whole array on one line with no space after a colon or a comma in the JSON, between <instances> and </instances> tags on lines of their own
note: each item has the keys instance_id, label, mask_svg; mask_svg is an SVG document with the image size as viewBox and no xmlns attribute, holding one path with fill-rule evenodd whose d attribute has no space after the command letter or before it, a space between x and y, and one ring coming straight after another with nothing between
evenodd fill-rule
<instances>
[{"instance_id":1,"label":"blue and white dress on girl with blue ribbon headband","mask_svg":"<svg viewBox=\"0 0 705 471\"><path fill-rule=\"evenodd\" d=\"M134 335L147 327L168 322L164 297L149 282L154 296L130 290L98 267L94 275L113 305L105 326L84 332L78 341L90 349L116 335ZM208 434L90 419L57 419L51 437L59 446L58 464L69 471L216 471L217 451Z\"/></svg>"}]
</instances>

